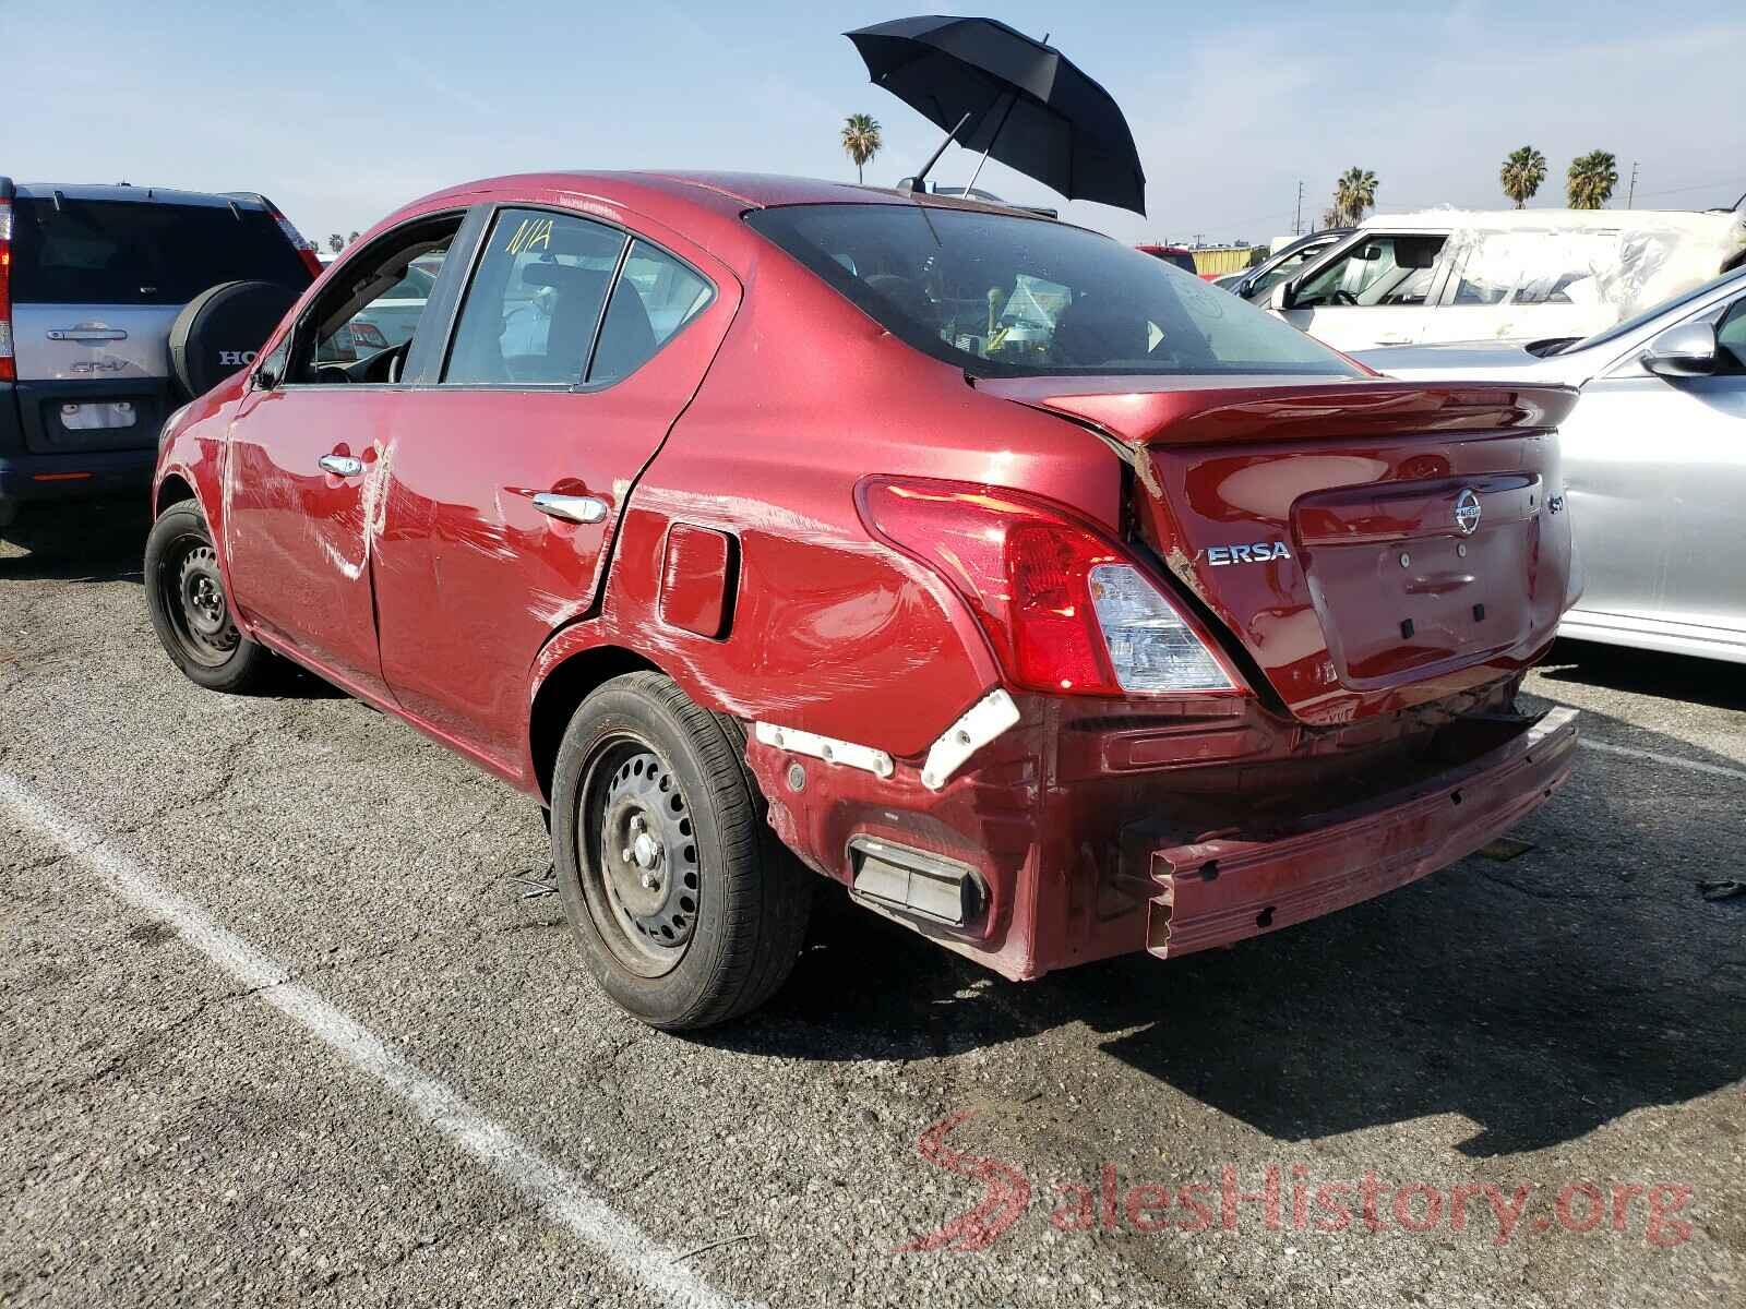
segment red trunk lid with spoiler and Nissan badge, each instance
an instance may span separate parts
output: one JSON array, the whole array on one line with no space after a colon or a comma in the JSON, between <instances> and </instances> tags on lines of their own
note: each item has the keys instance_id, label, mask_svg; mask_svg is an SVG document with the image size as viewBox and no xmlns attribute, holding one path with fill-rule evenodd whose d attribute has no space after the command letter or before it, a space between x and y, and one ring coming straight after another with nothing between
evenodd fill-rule
<instances>
[{"instance_id":1,"label":"red trunk lid with spoiler and Nissan badge","mask_svg":"<svg viewBox=\"0 0 1746 1309\"><path fill-rule=\"evenodd\" d=\"M1519 670L1575 599L1554 431L1571 391L1367 379L978 386L1128 449L1142 534L1306 723Z\"/></svg>"}]
</instances>

